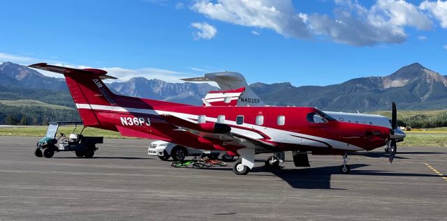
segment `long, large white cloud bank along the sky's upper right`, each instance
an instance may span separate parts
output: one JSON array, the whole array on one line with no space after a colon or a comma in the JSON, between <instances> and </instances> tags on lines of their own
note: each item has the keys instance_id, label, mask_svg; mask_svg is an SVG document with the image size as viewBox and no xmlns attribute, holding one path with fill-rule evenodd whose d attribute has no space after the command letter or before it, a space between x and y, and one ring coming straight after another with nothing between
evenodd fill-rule
<instances>
[{"instance_id":1,"label":"long, large white cloud bank along the sky's upper right","mask_svg":"<svg viewBox=\"0 0 447 221\"><path fill-rule=\"evenodd\" d=\"M402 43L407 27L429 30L433 26L423 10L404 0L376 0L370 8L356 0L334 1L332 15L297 12L291 0L196 0L191 10L213 20L271 29L285 37L322 37L356 46Z\"/></svg>"}]
</instances>

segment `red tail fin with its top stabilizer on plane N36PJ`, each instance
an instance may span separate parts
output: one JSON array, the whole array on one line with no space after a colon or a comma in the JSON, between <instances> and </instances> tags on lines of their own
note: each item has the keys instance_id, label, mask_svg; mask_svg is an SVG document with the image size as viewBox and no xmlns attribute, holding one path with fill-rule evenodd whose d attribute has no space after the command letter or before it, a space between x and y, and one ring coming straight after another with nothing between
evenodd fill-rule
<instances>
[{"instance_id":1,"label":"red tail fin with its top stabilizer on plane N36PJ","mask_svg":"<svg viewBox=\"0 0 447 221\"><path fill-rule=\"evenodd\" d=\"M86 68L75 69L52 66L47 63L36 63L30 68L47 70L64 75L71 96L78 107L84 125L99 125L91 105L115 106L115 94L110 91L101 79L117 79L106 75L105 70Z\"/></svg>"}]
</instances>

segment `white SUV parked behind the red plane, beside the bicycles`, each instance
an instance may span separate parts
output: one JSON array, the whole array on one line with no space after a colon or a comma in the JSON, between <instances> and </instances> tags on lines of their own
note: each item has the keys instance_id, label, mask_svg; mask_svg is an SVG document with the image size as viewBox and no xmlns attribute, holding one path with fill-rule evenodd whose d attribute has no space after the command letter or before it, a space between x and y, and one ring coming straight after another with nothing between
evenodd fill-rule
<instances>
[{"instance_id":1,"label":"white SUV parked behind the red plane, beside the bicycles","mask_svg":"<svg viewBox=\"0 0 447 221\"><path fill-rule=\"evenodd\" d=\"M180 146L177 144L173 144L170 142L163 142L161 140L157 140L149 144L149 148L147 148L148 155L156 155L160 158L160 160L168 160L170 157L173 160L184 160L189 155L207 155L209 158L222 158L224 161L233 160L234 156L228 155L228 153L224 151L205 151L196 148L189 148L185 146Z\"/></svg>"}]
</instances>

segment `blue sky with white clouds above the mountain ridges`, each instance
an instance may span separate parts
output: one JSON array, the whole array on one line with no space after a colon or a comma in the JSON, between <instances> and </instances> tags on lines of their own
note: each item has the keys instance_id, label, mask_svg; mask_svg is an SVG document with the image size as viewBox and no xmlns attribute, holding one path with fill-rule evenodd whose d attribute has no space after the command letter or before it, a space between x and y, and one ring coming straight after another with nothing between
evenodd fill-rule
<instances>
[{"instance_id":1,"label":"blue sky with white clouds above the mountain ridges","mask_svg":"<svg viewBox=\"0 0 447 221\"><path fill-rule=\"evenodd\" d=\"M2 8L0 61L169 82L232 70L249 83L295 86L414 62L447 75L447 1L10 0Z\"/></svg>"}]
</instances>

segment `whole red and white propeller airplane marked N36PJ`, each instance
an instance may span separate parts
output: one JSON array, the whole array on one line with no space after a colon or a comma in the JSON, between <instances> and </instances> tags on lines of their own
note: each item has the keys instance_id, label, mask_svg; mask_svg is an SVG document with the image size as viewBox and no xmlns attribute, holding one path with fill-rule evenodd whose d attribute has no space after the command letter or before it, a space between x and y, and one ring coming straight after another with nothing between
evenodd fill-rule
<instances>
[{"instance_id":1,"label":"whole red and white propeller airplane marked N36PJ","mask_svg":"<svg viewBox=\"0 0 447 221\"><path fill-rule=\"evenodd\" d=\"M256 153L281 151L343 155L340 172L347 174L347 153L370 151L388 140L395 146L395 140L405 137L396 130L395 108L390 129L340 122L312 107L193 106L120 96L102 82L101 79L112 78L104 70L46 63L29 67L64 75L85 126L119 131L128 137L232 151L242 157L233 167L238 175L248 174L254 167ZM300 165L302 159L297 157L295 165Z\"/></svg>"}]
</instances>

